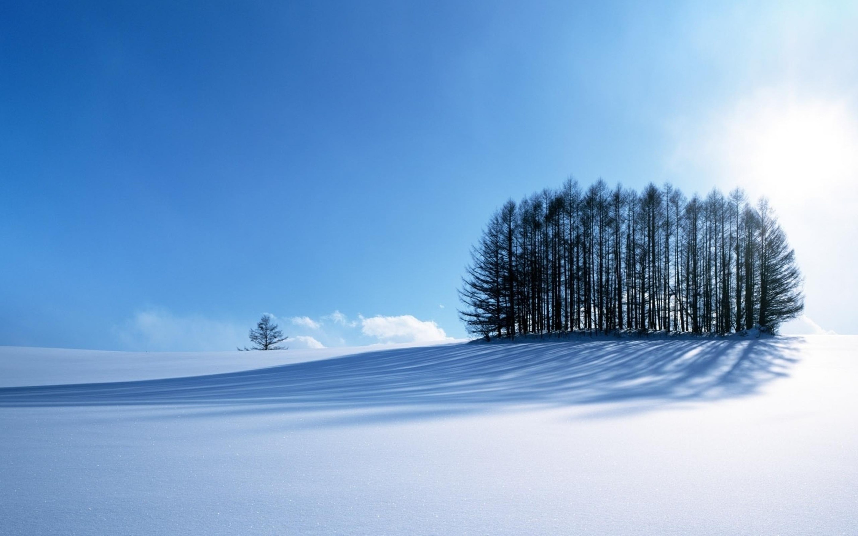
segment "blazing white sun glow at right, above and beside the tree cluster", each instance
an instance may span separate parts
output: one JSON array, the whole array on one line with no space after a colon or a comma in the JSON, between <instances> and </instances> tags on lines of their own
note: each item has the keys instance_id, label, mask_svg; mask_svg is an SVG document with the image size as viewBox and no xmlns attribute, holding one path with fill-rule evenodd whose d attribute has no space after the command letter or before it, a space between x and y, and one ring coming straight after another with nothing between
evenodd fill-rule
<instances>
[{"instance_id":1,"label":"blazing white sun glow at right, above and beside the tree cluster","mask_svg":"<svg viewBox=\"0 0 858 536\"><path fill-rule=\"evenodd\" d=\"M802 93L759 89L679 123L670 166L770 199L805 274L806 314L827 331L858 299L843 284L858 264L858 112L848 96Z\"/></svg>"}]
</instances>

